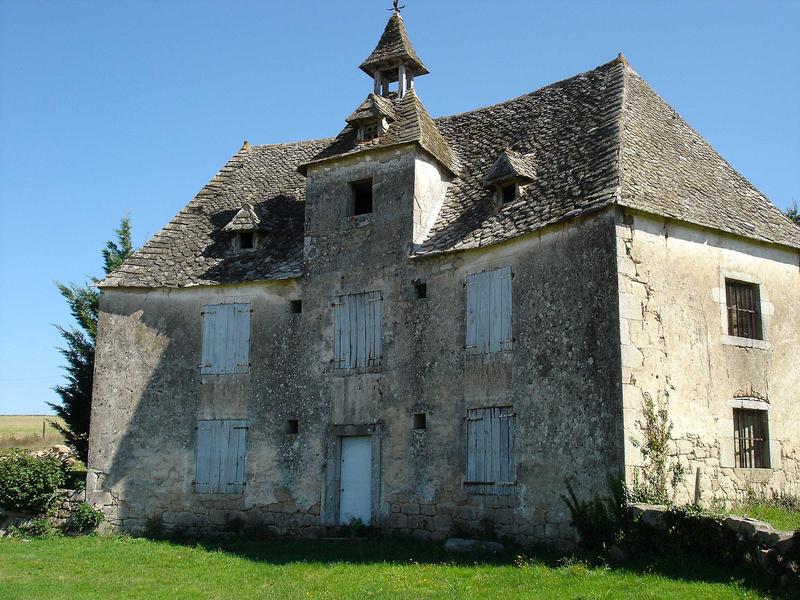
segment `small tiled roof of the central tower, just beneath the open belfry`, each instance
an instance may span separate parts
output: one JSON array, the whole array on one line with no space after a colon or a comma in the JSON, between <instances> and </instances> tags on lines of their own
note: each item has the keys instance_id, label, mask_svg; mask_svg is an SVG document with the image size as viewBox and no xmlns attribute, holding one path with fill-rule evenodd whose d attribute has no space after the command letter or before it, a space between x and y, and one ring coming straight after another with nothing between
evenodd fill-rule
<instances>
[{"instance_id":1,"label":"small tiled roof of the central tower, just beneath the open belfry","mask_svg":"<svg viewBox=\"0 0 800 600\"><path fill-rule=\"evenodd\" d=\"M394 114L395 121L389 126L389 130L368 142L359 142L358 129L352 124L348 125L330 146L301 164L298 170L305 175L308 167L316 163L392 146L419 144L452 173L456 172L457 163L450 146L413 89L394 101Z\"/></svg>"}]
</instances>

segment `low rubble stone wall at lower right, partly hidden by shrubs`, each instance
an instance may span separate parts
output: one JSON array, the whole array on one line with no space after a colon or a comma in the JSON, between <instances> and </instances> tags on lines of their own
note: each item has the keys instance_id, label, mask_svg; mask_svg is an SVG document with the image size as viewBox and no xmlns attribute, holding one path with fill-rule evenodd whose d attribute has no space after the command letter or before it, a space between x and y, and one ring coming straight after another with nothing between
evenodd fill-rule
<instances>
[{"instance_id":1,"label":"low rubble stone wall at lower right, partly hidden by shrubs","mask_svg":"<svg viewBox=\"0 0 800 600\"><path fill-rule=\"evenodd\" d=\"M667 528L666 506L634 504L634 519L656 530ZM711 517L708 517L709 519ZM724 526L732 531L734 548L720 548L720 554L732 552L751 563L786 589L800 589L800 530L778 531L769 523L729 515Z\"/></svg>"}]
</instances>

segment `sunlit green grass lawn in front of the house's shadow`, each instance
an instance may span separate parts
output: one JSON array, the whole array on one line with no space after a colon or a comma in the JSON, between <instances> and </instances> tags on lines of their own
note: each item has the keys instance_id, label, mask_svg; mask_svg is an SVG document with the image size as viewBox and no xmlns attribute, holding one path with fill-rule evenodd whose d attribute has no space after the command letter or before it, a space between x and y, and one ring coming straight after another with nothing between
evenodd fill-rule
<instances>
[{"instance_id":1,"label":"sunlit green grass lawn in front of the house's shadow","mask_svg":"<svg viewBox=\"0 0 800 600\"><path fill-rule=\"evenodd\" d=\"M0 539L4 600L759 597L696 560L666 575L513 556L453 559L436 546L398 541Z\"/></svg>"}]
</instances>

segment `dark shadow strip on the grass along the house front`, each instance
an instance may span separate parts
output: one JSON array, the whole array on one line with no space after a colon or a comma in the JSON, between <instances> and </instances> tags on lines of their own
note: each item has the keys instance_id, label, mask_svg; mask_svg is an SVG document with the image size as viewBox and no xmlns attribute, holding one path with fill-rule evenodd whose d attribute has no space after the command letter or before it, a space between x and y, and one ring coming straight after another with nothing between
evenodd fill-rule
<instances>
[{"instance_id":1,"label":"dark shadow strip on the grass along the house front","mask_svg":"<svg viewBox=\"0 0 800 600\"><path fill-rule=\"evenodd\" d=\"M576 565L581 565L586 569L609 569L634 575L659 575L683 582L718 584L736 582L759 594L770 595L774 592L771 582L746 564L732 566L707 564L702 557L686 556L655 560L634 557L622 564L612 564L602 556L558 553L547 546L525 549L510 547L505 552L497 554L454 554L445 552L442 544L424 543L397 537L316 541L231 537L179 538L162 541L181 546L199 547L213 552L224 552L246 560L273 565L389 563L395 565L520 567L536 564L551 569L575 569Z\"/></svg>"}]
</instances>

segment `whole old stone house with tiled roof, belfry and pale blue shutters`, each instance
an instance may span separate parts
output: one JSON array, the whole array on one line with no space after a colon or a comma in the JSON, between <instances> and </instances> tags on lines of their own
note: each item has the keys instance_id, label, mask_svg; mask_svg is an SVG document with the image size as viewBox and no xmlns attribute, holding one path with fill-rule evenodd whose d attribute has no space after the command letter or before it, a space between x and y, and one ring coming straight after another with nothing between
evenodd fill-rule
<instances>
[{"instance_id":1,"label":"whole old stone house with tiled roof, belfry and pale blue shutters","mask_svg":"<svg viewBox=\"0 0 800 600\"><path fill-rule=\"evenodd\" d=\"M112 525L569 540L648 404L679 500L800 492L800 228L622 56L432 119L394 13L361 70L339 135L245 142L100 283Z\"/></svg>"}]
</instances>

